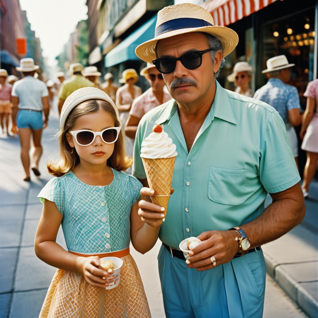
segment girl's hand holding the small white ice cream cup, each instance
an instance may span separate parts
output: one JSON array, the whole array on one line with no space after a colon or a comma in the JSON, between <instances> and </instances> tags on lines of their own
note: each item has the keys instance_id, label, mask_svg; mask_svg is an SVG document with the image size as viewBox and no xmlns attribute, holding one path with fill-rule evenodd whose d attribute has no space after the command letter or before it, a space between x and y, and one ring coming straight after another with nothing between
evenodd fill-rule
<instances>
[{"instance_id":1,"label":"girl's hand holding the small white ice cream cup","mask_svg":"<svg viewBox=\"0 0 318 318\"><path fill-rule=\"evenodd\" d=\"M92 286L105 288L108 286L106 281L109 274L101 266L98 256L83 257L80 260L80 272L83 274L85 280Z\"/></svg>"}]
</instances>

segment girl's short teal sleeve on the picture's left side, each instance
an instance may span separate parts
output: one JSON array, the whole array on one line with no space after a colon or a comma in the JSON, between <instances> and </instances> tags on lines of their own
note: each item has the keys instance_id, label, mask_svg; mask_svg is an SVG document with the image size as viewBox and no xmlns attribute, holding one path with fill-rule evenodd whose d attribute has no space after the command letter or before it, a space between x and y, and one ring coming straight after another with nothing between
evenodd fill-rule
<instances>
[{"instance_id":1,"label":"girl's short teal sleeve on the picture's left side","mask_svg":"<svg viewBox=\"0 0 318 318\"><path fill-rule=\"evenodd\" d=\"M44 199L56 204L58 210L64 215L64 187L58 177L52 178L38 194L44 204Z\"/></svg>"}]
</instances>

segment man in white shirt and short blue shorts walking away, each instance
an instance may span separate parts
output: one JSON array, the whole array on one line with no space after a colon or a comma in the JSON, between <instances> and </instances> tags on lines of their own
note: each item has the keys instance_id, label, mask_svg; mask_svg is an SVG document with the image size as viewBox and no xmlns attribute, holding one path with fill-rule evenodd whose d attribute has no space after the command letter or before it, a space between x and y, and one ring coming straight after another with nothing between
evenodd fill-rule
<instances>
[{"instance_id":1,"label":"man in white shirt and short blue shorts walking away","mask_svg":"<svg viewBox=\"0 0 318 318\"><path fill-rule=\"evenodd\" d=\"M49 93L45 83L34 77L39 66L34 65L33 59L21 59L20 66L16 69L23 73L24 78L15 82L12 87L12 124L13 128L18 128L21 143L21 161L25 171L23 180L31 181L30 138L32 136L34 145L31 169L35 176L40 176L38 163L42 156L42 129L46 128L49 119Z\"/></svg>"}]
</instances>

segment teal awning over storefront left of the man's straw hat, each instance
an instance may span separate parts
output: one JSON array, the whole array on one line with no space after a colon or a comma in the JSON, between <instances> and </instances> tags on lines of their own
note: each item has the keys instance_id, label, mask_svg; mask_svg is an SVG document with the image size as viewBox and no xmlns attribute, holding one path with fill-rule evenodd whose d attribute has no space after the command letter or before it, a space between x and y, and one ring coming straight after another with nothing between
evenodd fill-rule
<instances>
[{"instance_id":1,"label":"teal awning over storefront left of the man's straw hat","mask_svg":"<svg viewBox=\"0 0 318 318\"><path fill-rule=\"evenodd\" d=\"M157 15L135 30L105 56L105 66L110 67L128 60L140 60L135 54L139 44L152 39L155 35Z\"/></svg>"}]
</instances>

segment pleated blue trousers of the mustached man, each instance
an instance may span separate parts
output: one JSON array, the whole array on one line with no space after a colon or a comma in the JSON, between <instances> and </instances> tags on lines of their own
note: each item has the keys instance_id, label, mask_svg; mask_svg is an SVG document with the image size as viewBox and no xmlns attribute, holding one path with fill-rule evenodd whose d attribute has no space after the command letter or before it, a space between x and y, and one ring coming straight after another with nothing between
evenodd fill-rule
<instances>
[{"instance_id":1,"label":"pleated blue trousers of the mustached man","mask_svg":"<svg viewBox=\"0 0 318 318\"><path fill-rule=\"evenodd\" d=\"M218 261L218 260L217 260ZM261 318L266 267L262 251L198 272L162 245L159 275L167 318Z\"/></svg>"}]
</instances>

